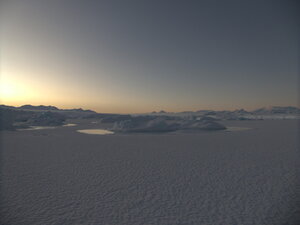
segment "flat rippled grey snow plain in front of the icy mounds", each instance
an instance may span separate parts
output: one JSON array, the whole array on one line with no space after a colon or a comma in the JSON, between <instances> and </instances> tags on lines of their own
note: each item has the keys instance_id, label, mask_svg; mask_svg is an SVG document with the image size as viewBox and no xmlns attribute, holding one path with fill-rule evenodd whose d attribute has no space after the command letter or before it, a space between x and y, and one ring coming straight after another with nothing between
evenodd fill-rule
<instances>
[{"instance_id":1,"label":"flat rippled grey snow plain in front of the icy mounds","mask_svg":"<svg viewBox=\"0 0 300 225\"><path fill-rule=\"evenodd\" d=\"M242 132L1 132L1 225L297 225L292 120Z\"/></svg>"}]
</instances>

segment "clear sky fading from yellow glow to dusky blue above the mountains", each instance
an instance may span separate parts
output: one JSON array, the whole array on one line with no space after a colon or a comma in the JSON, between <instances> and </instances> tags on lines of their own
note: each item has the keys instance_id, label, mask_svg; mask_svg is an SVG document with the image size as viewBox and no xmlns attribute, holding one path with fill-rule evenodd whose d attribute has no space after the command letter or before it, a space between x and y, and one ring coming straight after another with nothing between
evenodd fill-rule
<instances>
[{"instance_id":1,"label":"clear sky fading from yellow glow to dusky blue above the mountains","mask_svg":"<svg viewBox=\"0 0 300 225\"><path fill-rule=\"evenodd\" d=\"M1 102L98 112L297 105L296 1L4 0Z\"/></svg>"}]
</instances>

